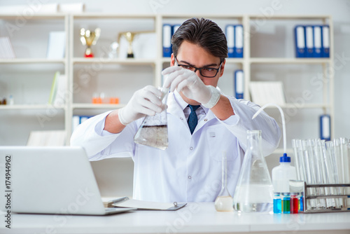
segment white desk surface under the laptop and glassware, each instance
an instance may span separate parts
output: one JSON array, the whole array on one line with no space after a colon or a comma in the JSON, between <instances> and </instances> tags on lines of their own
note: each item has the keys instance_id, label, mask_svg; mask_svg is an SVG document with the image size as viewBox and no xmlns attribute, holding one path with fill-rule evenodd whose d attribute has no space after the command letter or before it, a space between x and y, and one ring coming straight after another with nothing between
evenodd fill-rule
<instances>
[{"instance_id":1,"label":"white desk surface under the laptop and glassware","mask_svg":"<svg viewBox=\"0 0 350 234\"><path fill-rule=\"evenodd\" d=\"M11 229L1 220L0 233L350 233L350 212L238 214L216 212L214 202L111 216L12 214Z\"/></svg>"}]
</instances>

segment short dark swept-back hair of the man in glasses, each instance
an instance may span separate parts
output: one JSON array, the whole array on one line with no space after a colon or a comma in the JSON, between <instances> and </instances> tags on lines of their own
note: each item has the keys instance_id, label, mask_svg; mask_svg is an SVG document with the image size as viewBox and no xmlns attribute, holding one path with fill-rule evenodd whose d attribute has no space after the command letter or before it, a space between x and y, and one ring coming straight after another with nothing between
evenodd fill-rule
<instances>
[{"instance_id":1,"label":"short dark swept-back hair of the man in glasses","mask_svg":"<svg viewBox=\"0 0 350 234\"><path fill-rule=\"evenodd\" d=\"M228 57L228 41L218 25L204 18L192 18L183 22L172 36L173 53L176 56L183 41L194 43L215 57L220 57L221 62Z\"/></svg>"}]
</instances>

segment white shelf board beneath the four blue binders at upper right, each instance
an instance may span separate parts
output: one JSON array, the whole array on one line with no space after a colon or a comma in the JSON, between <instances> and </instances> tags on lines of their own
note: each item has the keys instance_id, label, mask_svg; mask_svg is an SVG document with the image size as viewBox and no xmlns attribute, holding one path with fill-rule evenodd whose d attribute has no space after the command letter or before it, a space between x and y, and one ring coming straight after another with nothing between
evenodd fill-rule
<instances>
[{"instance_id":1,"label":"white shelf board beneath the four blue binders at upper right","mask_svg":"<svg viewBox=\"0 0 350 234\"><path fill-rule=\"evenodd\" d=\"M329 58L284 58L284 57L252 57L251 63L260 64L323 64L330 63Z\"/></svg>"}]
</instances>

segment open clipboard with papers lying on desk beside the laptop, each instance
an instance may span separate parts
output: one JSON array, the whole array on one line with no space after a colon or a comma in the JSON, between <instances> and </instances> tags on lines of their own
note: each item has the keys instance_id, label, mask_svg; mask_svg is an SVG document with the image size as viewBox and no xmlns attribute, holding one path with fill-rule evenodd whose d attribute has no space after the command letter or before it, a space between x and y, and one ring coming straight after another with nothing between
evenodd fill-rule
<instances>
[{"instance_id":1,"label":"open clipboard with papers lying on desk beside the laptop","mask_svg":"<svg viewBox=\"0 0 350 234\"><path fill-rule=\"evenodd\" d=\"M109 207L127 207L148 210L177 210L184 207L187 203L178 204L177 202L148 202L144 200L130 199L127 197L110 200Z\"/></svg>"}]
</instances>

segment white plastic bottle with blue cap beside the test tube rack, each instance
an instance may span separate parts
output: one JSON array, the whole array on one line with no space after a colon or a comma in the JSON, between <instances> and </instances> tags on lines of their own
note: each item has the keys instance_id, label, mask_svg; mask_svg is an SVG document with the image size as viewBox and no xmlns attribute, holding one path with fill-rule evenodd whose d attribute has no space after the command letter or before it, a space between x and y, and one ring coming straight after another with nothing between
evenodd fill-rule
<instances>
[{"instance_id":1,"label":"white plastic bottle with blue cap beside the test tube rack","mask_svg":"<svg viewBox=\"0 0 350 234\"><path fill-rule=\"evenodd\" d=\"M289 193L289 180L297 179L295 167L290 165L290 157L286 153L279 158L280 165L272 169L272 185L274 193Z\"/></svg>"}]
</instances>

